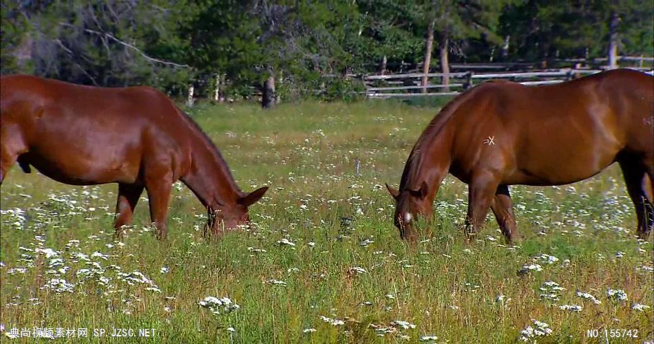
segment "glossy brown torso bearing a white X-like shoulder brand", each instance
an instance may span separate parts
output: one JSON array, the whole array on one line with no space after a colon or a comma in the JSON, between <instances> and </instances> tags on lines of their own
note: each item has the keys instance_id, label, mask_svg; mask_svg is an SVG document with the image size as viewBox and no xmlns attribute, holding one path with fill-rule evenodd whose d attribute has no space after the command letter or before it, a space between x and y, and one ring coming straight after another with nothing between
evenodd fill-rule
<instances>
[{"instance_id":1,"label":"glossy brown torso bearing a white X-like shoulder brand","mask_svg":"<svg viewBox=\"0 0 654 344\"><path fill-rule=\"evenodd\" d=\"M487 169L506 184L553 185L589 178L625 151L652 156L652 80L618 69L557 85L479 85L450 115L453 169L464 181Z\"/></svg>"}]
</instances>

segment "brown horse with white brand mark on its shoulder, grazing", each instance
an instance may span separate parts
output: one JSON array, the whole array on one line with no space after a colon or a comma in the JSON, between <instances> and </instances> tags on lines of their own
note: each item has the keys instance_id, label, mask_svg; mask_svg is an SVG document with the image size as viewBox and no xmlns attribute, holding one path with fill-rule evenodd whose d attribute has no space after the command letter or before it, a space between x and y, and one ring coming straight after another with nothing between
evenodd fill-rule
<instances>
[{"instance_id":1,"label":"brown horse with white brand mark on its shoulder, grazing","mask_svg":"<svg viewBox=\"0 0 654 344\"><path fill-rule=\"evenodd\" d=\"M654 228L654 78L616 69L567 83L483 83L457 96L423 131L404 167L394 223L414 239L412 221L430 218L443 178L468 184L465 232L491 208L507 241L516 235L508 185L578 182L618 162L635 205L637 233Z\"/></svg>"}]
</instances>

